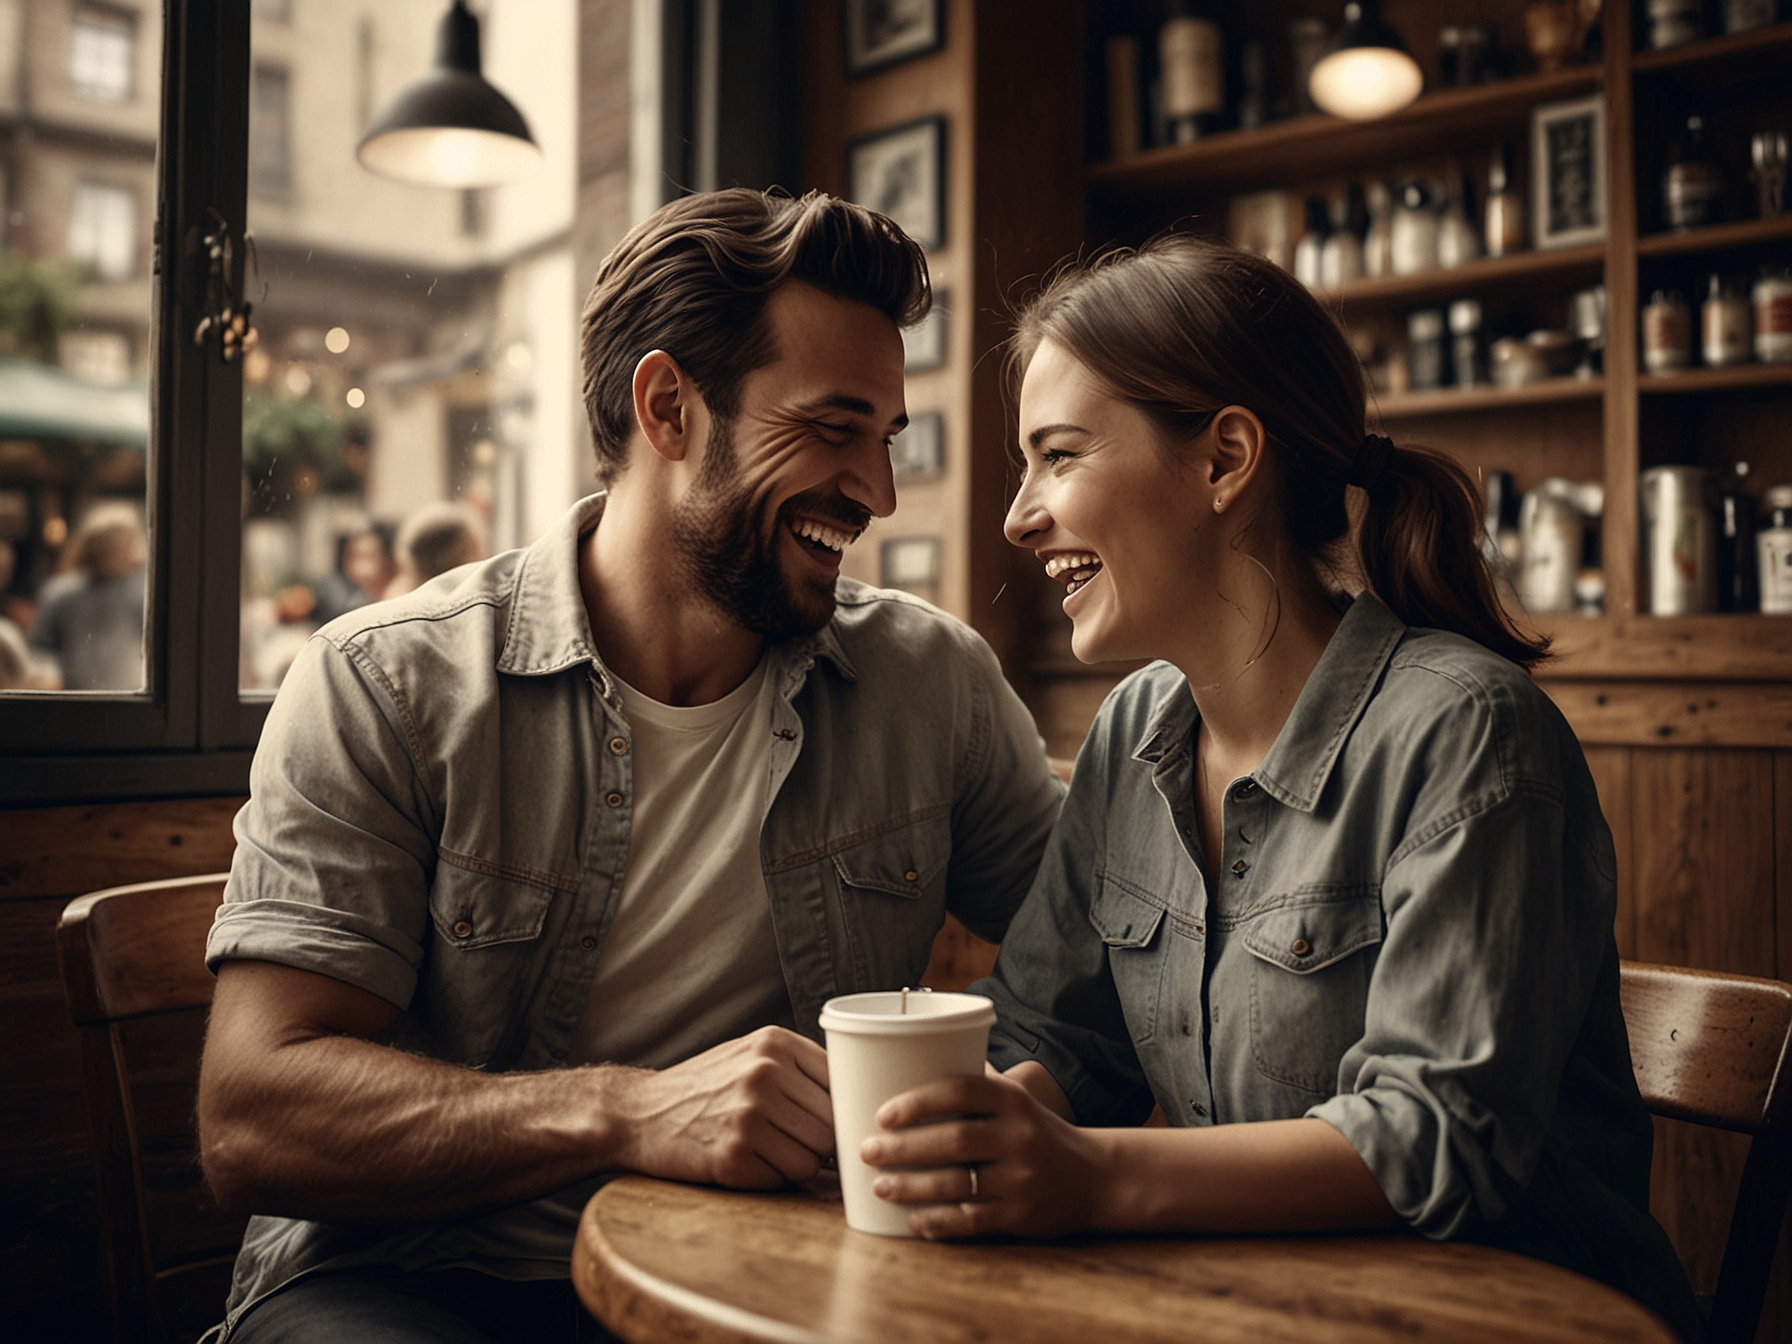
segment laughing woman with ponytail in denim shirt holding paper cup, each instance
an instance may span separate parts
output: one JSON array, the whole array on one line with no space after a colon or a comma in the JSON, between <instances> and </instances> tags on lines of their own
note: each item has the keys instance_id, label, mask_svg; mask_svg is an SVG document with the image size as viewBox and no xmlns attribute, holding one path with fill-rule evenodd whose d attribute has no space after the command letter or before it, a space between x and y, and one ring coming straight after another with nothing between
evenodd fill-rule
<instances>
[{"instance_id":1,"label":"laughing woman with ponytail in denim shirt holding paper cup","mask_svg":"<svg viewBox=\"0 0 1792 1344\"><path fill-rule=\"evenodd\" d=\"M1468 477L1366 435L1339 326L1222 244L1066 271L1011 353L1007 536L1077 658L1163 661L1102 706L977 986L1005 1073L892 1100L878 1193L925 1236L1405 1224L1695 1333L1649 1217L1611 833Z\"/></svg>"}]
</instances>

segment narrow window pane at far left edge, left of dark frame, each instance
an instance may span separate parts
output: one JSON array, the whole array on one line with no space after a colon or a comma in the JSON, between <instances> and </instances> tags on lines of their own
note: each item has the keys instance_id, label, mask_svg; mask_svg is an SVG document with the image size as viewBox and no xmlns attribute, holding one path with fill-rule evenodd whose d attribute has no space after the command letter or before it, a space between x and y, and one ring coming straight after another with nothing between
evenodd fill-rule
<instances>
[{"instance_id":1,"label":"narrow window pane at far left edge, left of dark frame","mask_svg":"<svg viewBox=\"0 0 1792 1344\"><path fill-rule=\"evenodd\" d=\"M0 692L138 692L159 5L0 22Z\"/></svg>"}]
</instances>

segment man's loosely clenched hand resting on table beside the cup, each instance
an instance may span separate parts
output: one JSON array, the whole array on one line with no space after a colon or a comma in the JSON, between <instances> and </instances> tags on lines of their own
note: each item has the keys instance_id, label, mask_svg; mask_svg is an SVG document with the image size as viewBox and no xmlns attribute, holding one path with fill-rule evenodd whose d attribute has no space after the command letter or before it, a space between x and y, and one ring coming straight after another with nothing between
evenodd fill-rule
<instances>
[{"instance_id":1,"label":"man's loosely clenched hand resting on table beside the cup","mask_svg":"<svg viewBox=\"0 0 1792 1344\"><path fill-rule=\"evenodd\" d=\"M769 1190L833 1152L828 1052L762 1027L661 1072L609 1077L622 1165L674 1181Z\"/></svg>"}]
</instances>

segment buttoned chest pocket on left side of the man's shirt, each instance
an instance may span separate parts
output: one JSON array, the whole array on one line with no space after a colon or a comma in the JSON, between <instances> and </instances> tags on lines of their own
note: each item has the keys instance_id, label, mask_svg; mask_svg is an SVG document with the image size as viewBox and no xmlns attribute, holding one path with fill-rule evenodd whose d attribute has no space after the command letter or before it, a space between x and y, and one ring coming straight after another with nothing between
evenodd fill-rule
<instances>
[{"instance_id":1,"label":"buttoned chest pocket on left side of the man's shirt","mask_svg":"<svg viewBox=\"0 0 1792 1344\"><path fill-rule=\"evenodd\" d=\"M426 1023L430 1054L482 1066L500 1050L514 1050L527 995L541 975L541 939L556 898L572 900L543 883L446 858L435 866L430 939L405 1014Z\"/></svg>"}]
</instances>

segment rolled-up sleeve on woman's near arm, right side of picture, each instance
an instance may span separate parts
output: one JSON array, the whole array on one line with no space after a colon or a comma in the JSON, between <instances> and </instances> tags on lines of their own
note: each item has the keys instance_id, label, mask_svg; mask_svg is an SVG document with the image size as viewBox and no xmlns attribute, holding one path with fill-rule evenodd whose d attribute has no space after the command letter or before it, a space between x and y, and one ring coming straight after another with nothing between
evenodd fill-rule
<instances>
[{"instance_id":1,"label":"rolled-up sleeve on woman's near arm, right side of picture","mask_svg":"<svg viewBox=\"0 0 1792 1344\"><path fill-rule=\"evenodd\" d=\"M1416 1231L1500 1219L1529 1185L1613 919L1609 833L1520 781L1392 855L1387 930L1335 1125Z\"/></svg>"}]
</instances>

